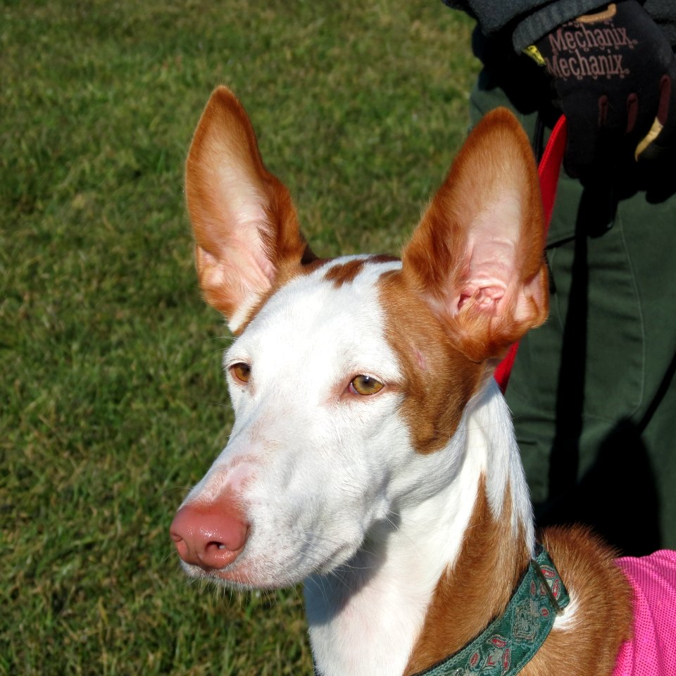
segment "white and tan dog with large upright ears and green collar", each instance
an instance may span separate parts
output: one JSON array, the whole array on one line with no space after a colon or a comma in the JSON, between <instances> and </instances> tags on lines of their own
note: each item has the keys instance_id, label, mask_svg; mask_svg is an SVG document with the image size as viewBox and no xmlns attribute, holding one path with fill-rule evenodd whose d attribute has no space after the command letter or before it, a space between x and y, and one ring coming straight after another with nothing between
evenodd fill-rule
<instances>
[{"instance_id":1,"label":"white and tan dog with large upright ears and green collar","mask_svg":"<svg viewBox=\"0 0 676 676\"><path fill-rule=\"evenodd\" d=\"M236 336L232 434L170 529L188 575L304 582L321 676L611 674L630 578L587 530L536 535L493 378L549 302L513 115L472 130L401 258L315 256L225 87L186 194L202 293Z\"/></svg>"}]
</instances>

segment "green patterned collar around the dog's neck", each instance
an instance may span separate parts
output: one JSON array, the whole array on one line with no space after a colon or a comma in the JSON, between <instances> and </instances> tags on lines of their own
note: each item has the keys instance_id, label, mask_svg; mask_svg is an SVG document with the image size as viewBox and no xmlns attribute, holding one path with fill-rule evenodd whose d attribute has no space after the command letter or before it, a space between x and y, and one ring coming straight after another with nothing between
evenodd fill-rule
<instances>
[{"instance_id":1,"label":"green patterned collar around the dog's neck","mask_svg":"<svg viewBox=\"0 0 676 676\"><path fill-rule=\"evenodd\" d=\"M505 612L461 651L415 676L514 676L549 636L568 606L558 570L538 547Z\"/></svg>"}]
</instances>

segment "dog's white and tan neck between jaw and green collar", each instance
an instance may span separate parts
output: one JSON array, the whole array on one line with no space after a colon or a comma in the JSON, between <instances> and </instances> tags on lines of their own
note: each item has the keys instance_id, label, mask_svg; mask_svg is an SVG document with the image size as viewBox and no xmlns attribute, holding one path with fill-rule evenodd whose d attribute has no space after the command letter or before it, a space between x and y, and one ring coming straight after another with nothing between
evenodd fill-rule
<instances>
[{"instance_id":1,"label":"dog's white and tan neck between jaw and green collar","mask_svg":"<svg viewBox=\"0 0 676 676\"><path fill-rule=\"evenodd\" d=\"M349 564L306 581L323 676L392 676L429 666L503 611L527 565L530 499L494 382L472 399L439 453L457 457L444 487L391 514Z\"/></svg>"}]
</instances>

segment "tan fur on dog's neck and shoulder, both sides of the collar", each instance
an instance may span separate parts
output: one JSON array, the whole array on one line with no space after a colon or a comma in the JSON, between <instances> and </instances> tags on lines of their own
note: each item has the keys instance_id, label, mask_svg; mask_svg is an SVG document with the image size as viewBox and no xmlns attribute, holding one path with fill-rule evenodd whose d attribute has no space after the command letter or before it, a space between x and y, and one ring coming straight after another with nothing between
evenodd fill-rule
<instances>
[{"instance_id":1,"label":"tan fur on dog's neck and shoulder, both sides of the collar","mask_svg":"<svg viewBox=\"0 0 676 676\"><path fill-rule=\"evenodd\" d=\"M505 538L508 518L508 509L500 522L492 518L480 488L463 551L439 580L404 676L462 649L503 613L528 563L522 539ZM632 592L614 552L582 527L554 527L540 538L575 599L575 617L568 629L552 630L520 675L611 675L632 634Z\"/></svg>"}]
</instances>

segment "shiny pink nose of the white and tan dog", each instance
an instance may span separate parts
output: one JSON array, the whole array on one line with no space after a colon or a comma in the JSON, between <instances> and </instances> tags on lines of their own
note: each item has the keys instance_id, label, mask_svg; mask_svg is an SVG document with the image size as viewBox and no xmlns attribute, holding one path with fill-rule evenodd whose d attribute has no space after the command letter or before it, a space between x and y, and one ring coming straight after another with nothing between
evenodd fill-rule
<instances>
[{"instance_id":1,"label":"shiny pink nose of the white and tan dog","mask_svg":"<svg viewBox=\"0 0 676 676\"><path fill-rule=\"evenodd\" d=\"M244 549L249 524L223 502L187 504L170 527L178 555L201 568L225 568Z\"/></svg>"}]
</instances>

